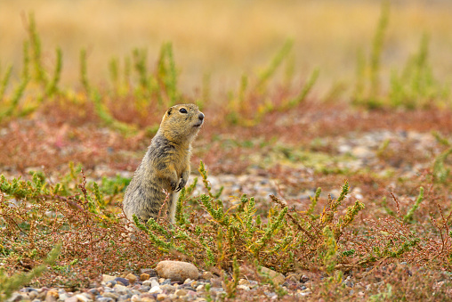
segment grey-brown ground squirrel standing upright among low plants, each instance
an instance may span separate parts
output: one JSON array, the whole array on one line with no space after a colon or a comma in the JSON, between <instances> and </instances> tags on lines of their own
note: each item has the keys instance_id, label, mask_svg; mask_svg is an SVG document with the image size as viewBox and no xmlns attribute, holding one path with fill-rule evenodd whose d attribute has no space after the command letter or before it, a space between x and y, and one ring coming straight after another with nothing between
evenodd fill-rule
<instances>
[{"instance_id":1,"label":"grey-brown ground squirrel standing upright among low plants","mask_svg":"<svg viewBox=\"0 0 452 302\"><path fill-rule=\"evenodd\" d=\"M165 112L157 135L136 169L124 196L124 212L146 222L157 218L169 192L168 216L174 223L179 191L190 175L191 143L204 122L204 114L193 104L175 105Z\"/></svg>"}]
</instances>

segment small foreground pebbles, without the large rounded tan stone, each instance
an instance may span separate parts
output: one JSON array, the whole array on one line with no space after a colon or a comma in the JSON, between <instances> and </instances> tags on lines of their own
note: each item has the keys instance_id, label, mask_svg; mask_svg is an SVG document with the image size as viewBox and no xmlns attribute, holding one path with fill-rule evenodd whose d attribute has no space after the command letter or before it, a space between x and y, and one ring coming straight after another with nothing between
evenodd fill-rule
<instances>
[{"instance_id":1,"label":"small foreground pebbles, without the large rounded tan stone","mask_svg":"<svg viewBox=\"0 0 452 302\"><path fill-rule=\"evenodd\" d=\"M262 267L262 272L268 273L273 282L280 282L280 278L284 281L284 276L268 268ZM198 279L198 269L196 269L196 276L194 273L189 278L181 280L180 276L177 280L169 279L159 275L150 277L141 282L128 282L123 285L124 280L132 278L120 278L109 275L102 275L102 282L100 287L89 290L79 290L76 292L66 291L64 289L32 289L24 288L20 291L14 292L12 298L8 302L157 302L157 301L221 301L226 298L226 290L220 285L221 282L210 281L214 277L212 273L199 273L201 276ZM142 274L142 273L141 273ZM136 280L139 279L137 275ZM130 276L129 276L130 277ZM206 277L206 279L205 279ZM141 278L141 276L140 276ZM215 284L215 285L213 285ZM282 284L282 282L281 282ZM311 290L303 286L303 283L298 282L296 290L292 291L295 297L302 298L311 293ZM206 290L206 285L210 290ZM247 295L258 297L262 293L262 288L259 283L250 279L243 278L238 281L238 290L246 291ZM278 298L274 292L266 288L265 296L267 299ZM300 290L302 289L302 290ZM34 297L34 298L31 298ZM265 299L265 298L263 298Z\"/></svg>"}]
</instances>

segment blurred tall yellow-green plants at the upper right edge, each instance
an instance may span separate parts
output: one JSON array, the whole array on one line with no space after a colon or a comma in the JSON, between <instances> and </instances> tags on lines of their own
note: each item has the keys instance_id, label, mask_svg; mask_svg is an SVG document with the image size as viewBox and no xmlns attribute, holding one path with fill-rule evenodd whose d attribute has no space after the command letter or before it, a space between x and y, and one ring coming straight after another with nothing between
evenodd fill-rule
<instances>
[{"instance_id":1,"label":"blurred tall yellow-green plants at the upper right edge","mask_svg":"<svg viewBox=\"0 0 452 302\"><path fill-rule=\"evenodd\" d=\"M362 51L358 53L354 103L369 109L450 106L450 83L441 82L433 76L426 34L421 38L418 52L408 59L404 69L392 70L389 91L382 91L381 58L389 19L390 2L383 1L368 61Z\"/></svg>"}]
</instances>

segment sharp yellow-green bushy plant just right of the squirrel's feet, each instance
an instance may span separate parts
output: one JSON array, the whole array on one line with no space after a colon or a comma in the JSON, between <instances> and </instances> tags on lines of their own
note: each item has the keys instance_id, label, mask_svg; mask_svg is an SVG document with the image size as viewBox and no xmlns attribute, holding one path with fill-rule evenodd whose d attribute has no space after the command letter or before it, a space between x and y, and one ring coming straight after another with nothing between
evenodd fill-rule
<instances>
[{"instance_id":1,"label":"sharp yellow-green bushy plant just right of the squirrel's feet","mask_svg":"<svg viewBox=\"0 0 452 302\"><path fill-rule=\"evenodd\" d=\"M309 254L319 265L327 263L327 272L330 272L331 267L335 267L332 261L334 264L339 261L335 256L339 246L337 245L333 255L331 242L339 240L359 210L364 208L362 203L356 201L347 208L344 216L337 216L349 190L348 183L345 183L340 197L328 201L321 219L319 215L312 214L319 200L318 190L308 215L289 211L287 205L271 196L276 207L270 208L266 221L262 222L261 216L256 215L253 197L244 195L234 206L226 208L221 194L211 192L202 161L199 172L207 194L190 197L188 192L193 191L193 186L182 190L182 197L176 208L175 225L170 227L153 219L143 224L136 217L134 222L148 233L149 239L160 249L177 251L207 267L215 265L223 269L230 268L232 259L237 257L238 261L256 261L259 265L278 267L279 271L286 272ZM190 223L190 219L193 219L190 213L193 213L194 208L187 207L188 202L193 206L198 205L198 210L201 210L199 217L207 216L196 226ZM322 233L319 230L326 231ZM233 295L232 289L233 286L230 295Z\"/></svg>"}]
</instances>

